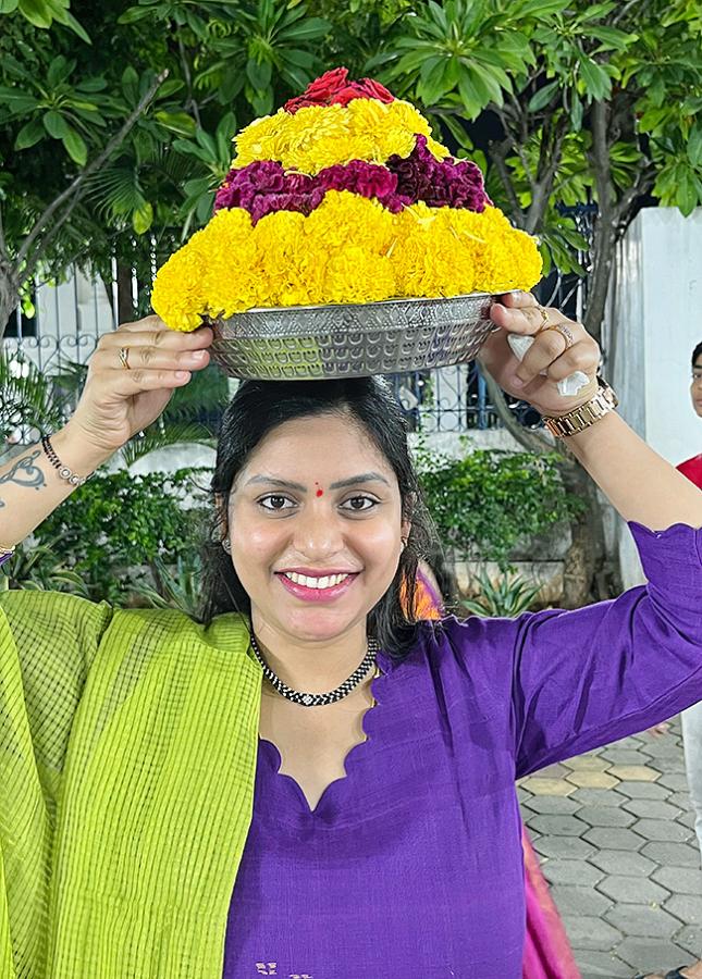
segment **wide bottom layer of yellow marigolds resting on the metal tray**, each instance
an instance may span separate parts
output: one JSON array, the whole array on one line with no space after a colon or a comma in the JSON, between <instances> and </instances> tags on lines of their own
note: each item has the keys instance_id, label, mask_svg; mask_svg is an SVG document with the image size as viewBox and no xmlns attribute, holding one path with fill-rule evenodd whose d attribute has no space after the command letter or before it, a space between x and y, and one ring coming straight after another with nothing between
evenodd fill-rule
<instances>
[{"instance_id":1,"label":"wide bottom layer of yellow marigolds resting on the metal tray","mask_svg":"<svg viewBox=\"0 0 702 979\"><path fill-rule=\"evenodd\" d=\"M497 208L419 202L393 214L330 190L309 216L276 211L255 227L239 208L218 211L159 271L152 305L188 331L253 307L501 293L530 289L540 275L534 239Z\"/></svg>"}]
</instances>

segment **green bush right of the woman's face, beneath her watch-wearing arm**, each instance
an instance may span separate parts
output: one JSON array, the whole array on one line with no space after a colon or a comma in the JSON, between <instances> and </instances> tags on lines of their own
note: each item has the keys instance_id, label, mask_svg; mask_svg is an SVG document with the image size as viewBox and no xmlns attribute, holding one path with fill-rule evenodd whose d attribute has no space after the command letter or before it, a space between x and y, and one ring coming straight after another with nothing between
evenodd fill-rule
<instances>
[{"instance_id":1,"label":"green bush right of the woman's face, beneath her watch-wearing arm","mask_svg":"<svg viewBox=\"0 0 702 979\"><path fill-rule=\"evenodd\" d=\"M494 449L452 459L421 443L416 451L420 484L444 546L508 570L519 541L543 534L582 508L564 492L557 459L555 453Z\"/></svg>"}]
</instances>

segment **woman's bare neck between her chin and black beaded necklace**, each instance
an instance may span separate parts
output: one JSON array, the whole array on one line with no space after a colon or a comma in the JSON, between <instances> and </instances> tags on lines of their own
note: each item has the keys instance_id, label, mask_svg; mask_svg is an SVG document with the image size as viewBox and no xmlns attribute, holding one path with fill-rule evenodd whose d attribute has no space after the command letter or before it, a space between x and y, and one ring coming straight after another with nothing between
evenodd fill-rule
<instances>
[{"instance_id":1,"label":"woman's bare neck between her chin and black beaded necklace","mask_svg":"<svg viewBox=\"0 0 702 979\"><path fill-rule=\"evenodd\" d=\"M280 634L255 614L251 621L268 666L283 683L300 693L335 690L359 667L368 652L365 621L343 635L307 641Z\"/></svg>"}]
</instances>

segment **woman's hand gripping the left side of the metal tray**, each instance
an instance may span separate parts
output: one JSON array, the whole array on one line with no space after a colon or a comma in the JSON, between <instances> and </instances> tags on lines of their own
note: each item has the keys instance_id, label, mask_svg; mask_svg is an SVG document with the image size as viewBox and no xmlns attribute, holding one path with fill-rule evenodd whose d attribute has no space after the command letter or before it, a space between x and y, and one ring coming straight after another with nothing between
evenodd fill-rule
<instances>
[{"instance_id":1,"label":"woman's hand gripping the left side of the metal tray","mask_svg":"<svg viewBox=\"0 0 702 979\"><path fill-rule=\"evenodd\" d=\"M67 427L98 451L115 453L156 421L193 371L207 367L213 338L210 326L182 333L169 330L159 317L103 334ZM128 371L120 362L120 347L128 348ZM177 376L178 371L184 375Z\"/></svg>"}]
</instances>

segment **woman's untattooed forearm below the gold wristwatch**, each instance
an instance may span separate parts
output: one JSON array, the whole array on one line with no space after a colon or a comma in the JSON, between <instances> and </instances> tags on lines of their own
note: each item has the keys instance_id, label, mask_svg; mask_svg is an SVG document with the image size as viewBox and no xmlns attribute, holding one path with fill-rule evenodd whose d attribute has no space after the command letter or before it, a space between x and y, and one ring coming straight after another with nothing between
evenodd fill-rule
<instances>
[{"instance_id":1,"label":"woman's untattooed forearm below the gold wristwatch","mask_svg":"<svg viewBox=\"0 0 702 979\"><path fill-rule=\"evenodd\" d=\"M625 520L650 530L674 523L702 526L702 492L615 411L566 444Z\"/></svg>"}]
</instances>

